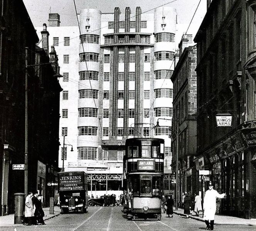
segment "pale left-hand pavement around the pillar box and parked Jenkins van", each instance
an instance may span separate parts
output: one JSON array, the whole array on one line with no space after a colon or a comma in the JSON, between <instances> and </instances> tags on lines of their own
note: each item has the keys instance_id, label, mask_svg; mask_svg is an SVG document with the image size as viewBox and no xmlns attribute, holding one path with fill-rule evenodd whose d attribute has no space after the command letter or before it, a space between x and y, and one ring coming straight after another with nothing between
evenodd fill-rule
<instances>
[{"instance_id":1,"label":"pale left-hand pavement around the pillar box and parked Jenkins van","mask_svg":"<svg viewBox=\"0 0 256 231\"><path fill-rule=\"evenodd\" d=\"M44 221L51 219L53 217L61 214L61 209L58 206L54 206L54 214L50 214L50 209L43 208L44 210ZM6 216L0 216L0 226L22 226L23 224L14 224L14 214L9 214Z\"/></svg>"}]
</instances>

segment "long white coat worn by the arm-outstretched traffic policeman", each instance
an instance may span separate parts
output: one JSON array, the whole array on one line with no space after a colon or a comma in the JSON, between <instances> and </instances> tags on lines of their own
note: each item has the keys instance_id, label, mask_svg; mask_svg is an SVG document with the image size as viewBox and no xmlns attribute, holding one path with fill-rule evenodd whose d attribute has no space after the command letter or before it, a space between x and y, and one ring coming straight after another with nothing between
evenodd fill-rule
<instances>
[{"instance_id":1,"label":"long white coat worn by the arm-outstretched traffic policeman","mask_svg":"<svg viewBox=\"0 0 256 231\"><path fill-rule=\"evenodd\" d=\"M214 189L207 190L204 196L204 219L205 220L214 220L216 212L216 198L224 198L226 194L219 194Z\"/></svg>"}]
</instances>

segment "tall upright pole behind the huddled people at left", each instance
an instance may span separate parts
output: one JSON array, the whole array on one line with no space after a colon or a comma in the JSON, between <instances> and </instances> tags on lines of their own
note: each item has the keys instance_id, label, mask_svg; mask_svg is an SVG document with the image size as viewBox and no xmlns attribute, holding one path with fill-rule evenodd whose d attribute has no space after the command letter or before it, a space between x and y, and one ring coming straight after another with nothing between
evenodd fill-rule
<instances>
[{"instance_id":1,"label":"tall upright pole behind the huddled people at left","mask_svg":"<svg viewBox=\"0 0 256 231\"><path fill-rule=\"evenodd\" d=\"M28 47L25 47L25 160L24 160L24 193L28 194Z\"/></svg>"}]
</instances>

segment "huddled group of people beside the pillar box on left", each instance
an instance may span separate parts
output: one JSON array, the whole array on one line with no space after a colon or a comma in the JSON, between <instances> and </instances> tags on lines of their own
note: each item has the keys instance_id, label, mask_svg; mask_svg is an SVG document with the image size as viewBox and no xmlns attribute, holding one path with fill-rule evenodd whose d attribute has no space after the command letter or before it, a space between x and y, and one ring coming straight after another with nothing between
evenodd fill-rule
<instances>
[{"instance_id":1,"label":"huddled group of people beside the pillar box on left","mask_svg":"<svg viewBox=\"0 0 256 231\"><path fill-rule=\"evenodd\" d=\"M42 225L44 223L44 210L42 209L42 196L35 192L29 192L25 199L24 225Z\"/></svg>"}]
</instances>

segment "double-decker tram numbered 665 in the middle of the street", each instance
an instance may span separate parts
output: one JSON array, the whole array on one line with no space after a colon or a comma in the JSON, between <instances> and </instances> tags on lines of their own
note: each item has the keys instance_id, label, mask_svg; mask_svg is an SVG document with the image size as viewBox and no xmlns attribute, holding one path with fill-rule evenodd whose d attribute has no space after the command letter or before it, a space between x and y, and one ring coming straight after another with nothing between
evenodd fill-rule
<instances>
[{"instance_id":1,"label":"double-decker tram numbered 665 in the middle of the street","mask_svg":"<svg viewBox=\"0 0 256 231\"><path fill-rule=\"evenodd\" d=\"M123 166L128 219L161 219L163 159L163 139L126 139Z\"/></svg>"}]
</instances>

